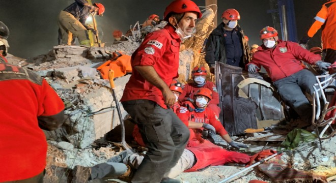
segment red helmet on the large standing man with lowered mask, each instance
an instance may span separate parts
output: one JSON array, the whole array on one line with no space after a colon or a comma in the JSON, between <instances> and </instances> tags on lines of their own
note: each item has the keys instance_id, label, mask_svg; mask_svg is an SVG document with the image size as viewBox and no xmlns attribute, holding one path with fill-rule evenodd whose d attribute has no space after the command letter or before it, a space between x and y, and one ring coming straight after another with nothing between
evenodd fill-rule
<instances>
[{"instance_id":1,"label":"red helmet on the large standing man with lowered mask","mask_svg":"<svg viewBox=\"0 0 336 183\"><path fill-rule=\"evenodd\" d=\"M200 8L191 0L175 0L165 8L163 17L168 21L168 15L171 13L196 12L197 18L202 17Z\"/></svg>"}]
</instances>

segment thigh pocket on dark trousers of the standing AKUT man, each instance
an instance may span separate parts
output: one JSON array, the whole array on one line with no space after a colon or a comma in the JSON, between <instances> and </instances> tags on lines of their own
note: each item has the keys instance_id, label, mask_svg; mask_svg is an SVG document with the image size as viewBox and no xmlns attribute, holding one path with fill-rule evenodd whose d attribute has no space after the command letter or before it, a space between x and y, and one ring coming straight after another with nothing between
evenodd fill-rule
<instances>
[{"instance_id":1,"label":"thigh pocket on dark trousers of the standing AKUT man","mask_svg":"<svg viewBox=\"0 0 336 183\"><path fill-rule=\"evenodd\" d=\"M166 129L163 120L158 120L152 124L146 124L145 133L146 138L149 142L165 142L168 140L167 134L168 130Z\"/></svg>"}]
</instances>

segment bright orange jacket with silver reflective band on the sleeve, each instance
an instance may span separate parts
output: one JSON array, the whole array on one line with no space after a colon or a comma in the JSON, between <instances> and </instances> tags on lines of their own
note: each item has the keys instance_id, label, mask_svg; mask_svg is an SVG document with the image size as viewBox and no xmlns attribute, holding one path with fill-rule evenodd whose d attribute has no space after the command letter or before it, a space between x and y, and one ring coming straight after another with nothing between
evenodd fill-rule
<instances>
[{"instance_id":1,"label":"bright orange jacket with silver reflective band on the sleeve","mask_svg":"<svg viewBox=\"0 0 336 183\"><path fill-rule=\"evenodd\" d=\"M322 49L336 50L336 0L323 4L314 19L307 35L312 38L322 27Z\"/></svg>"}]
</instances>

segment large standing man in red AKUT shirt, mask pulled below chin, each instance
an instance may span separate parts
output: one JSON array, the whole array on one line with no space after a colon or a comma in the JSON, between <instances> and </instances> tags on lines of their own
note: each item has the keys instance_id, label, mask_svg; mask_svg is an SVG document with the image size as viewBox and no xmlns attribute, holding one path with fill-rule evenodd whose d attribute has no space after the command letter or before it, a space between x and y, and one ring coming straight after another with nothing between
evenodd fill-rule
<instances>
[{"instance_id":1,"label":"large standing man in red AKUT shirt, mask pulled below chin","mask_svg":"<svg viewBox=\"0 0 336 183\"><path fill-rule=\"evenodd\" d=\"M191 36L201 16L194 2L173 1L164 11L169 23L148 34L132 54L132 75L121 102L149 149L132 182L174 182L162 177L182 155L189 130L167 107L176 102L169 85L178 77L181 40Z\"/></svg>"}]
</instances>

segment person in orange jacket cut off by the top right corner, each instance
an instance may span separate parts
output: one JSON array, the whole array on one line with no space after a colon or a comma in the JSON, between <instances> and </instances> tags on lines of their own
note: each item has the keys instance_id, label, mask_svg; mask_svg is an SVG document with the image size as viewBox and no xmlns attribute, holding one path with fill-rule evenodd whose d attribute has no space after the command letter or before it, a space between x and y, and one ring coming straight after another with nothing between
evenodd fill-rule
<instances>
[{"instance_id":1,"label":"person in orange jacket cut off by the top right corner","mask_svg":"<svg viewBox=\"0 0 336 183\"><path fill-rule=\"evenodd\" d=\"M300 40L300 44L307 44L322 27L322 50L325 53L324 61L333 64L336 60L336 0L322 5L315 16L307 36Z\"/></svg>"}]
</instances>

